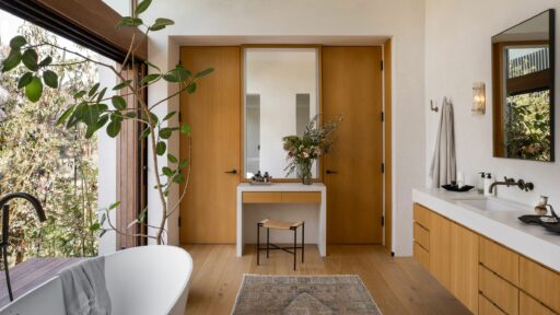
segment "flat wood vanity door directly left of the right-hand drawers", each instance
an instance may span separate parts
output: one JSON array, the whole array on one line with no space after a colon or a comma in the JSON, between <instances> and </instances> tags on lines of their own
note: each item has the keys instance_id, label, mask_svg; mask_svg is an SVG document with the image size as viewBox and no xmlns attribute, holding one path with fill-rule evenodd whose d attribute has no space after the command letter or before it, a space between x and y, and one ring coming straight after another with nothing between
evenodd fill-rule
<instances>
[{"instance_id":1,"label":"flat wood vanity door directly left of the right-hand drawers","mask_svg":"<svg viewBox=\"0 0 560 315\"><path fill-rule=\"evenodd\" d=\"M456 223L451 230L451 292L477 314L478 234Z\"/></svg>"}]
</instances>

